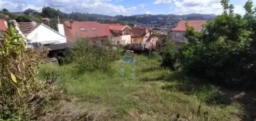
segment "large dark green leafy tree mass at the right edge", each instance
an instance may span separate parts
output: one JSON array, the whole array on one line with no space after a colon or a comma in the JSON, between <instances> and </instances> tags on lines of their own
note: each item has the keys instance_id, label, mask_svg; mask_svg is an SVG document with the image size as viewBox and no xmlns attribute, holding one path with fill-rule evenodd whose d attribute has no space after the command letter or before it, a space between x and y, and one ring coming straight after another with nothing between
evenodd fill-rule
<instances>
[{"instance_id":1,"label":"large dark green leafy tree mass at the right edge","mask_svg":"<svg viewBox=\"0 0 256 121\"><path fill-rule=\"evenodd\" d=\"M199 33L187 26L182 66L197 77L229 87L255 87L255 10L245 4L244 17L234 14L233 5L222 0L223 14L206 23Z\"/></svg>"}]
</instances>

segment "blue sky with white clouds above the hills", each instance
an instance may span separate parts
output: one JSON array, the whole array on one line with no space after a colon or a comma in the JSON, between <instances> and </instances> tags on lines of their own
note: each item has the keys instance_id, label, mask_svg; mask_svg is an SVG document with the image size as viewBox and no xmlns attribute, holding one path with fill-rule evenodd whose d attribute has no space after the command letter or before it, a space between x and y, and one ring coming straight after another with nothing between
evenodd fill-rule
<instances>
[{"instance_id":1,"label":"blue sky with white clouds above the hills","mask_svg":"<svg viewBox=\"0 0 256 121\"><path fill-rule=\"evenodd\" d=\"M230 0L235 13L244 14L247 0ZM256 3L256 0L253 0ZM51 6L63 12L89 12L106 15L134 14L220 14L220 0L0 0L0 9L11 12Z\"/></svg>"}]
</instances>

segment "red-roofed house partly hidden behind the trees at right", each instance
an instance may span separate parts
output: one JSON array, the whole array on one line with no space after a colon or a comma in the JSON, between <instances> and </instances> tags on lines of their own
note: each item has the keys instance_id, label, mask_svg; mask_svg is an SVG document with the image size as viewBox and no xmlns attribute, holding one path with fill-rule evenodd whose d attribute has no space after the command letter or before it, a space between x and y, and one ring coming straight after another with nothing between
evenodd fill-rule
<instances>
[{"instance_id":1,"label":"red-roofed house partly hidden behind the trees at right","mask_svg":"<svg viewBox=\"0 0 256 121\"><path fill-rule=\"evenodd\" d=\"M183 43L187 41L185 37L186 22L188 22L188 26L194 27L195 31L199 32L202 30L202 26L207 22L207 20L181 20L177 27L173 28L169 34L175 43Z\"/></svg>"}]
</instances>

